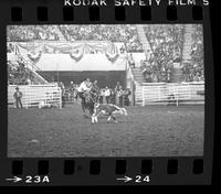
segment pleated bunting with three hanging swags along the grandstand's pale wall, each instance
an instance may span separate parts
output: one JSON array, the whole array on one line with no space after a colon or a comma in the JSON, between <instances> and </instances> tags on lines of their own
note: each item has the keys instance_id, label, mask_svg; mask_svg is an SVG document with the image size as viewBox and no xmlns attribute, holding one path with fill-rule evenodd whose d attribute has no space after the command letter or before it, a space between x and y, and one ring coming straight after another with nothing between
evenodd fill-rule
<instances>
[{"instance_id":1,"label":"pleated bunting with three hanging swags along the grandstand's pale wall","mask_svg":"<svg viewBox=\"0 0 221 194\"><path fill-rule=\"evenodd\" d=\"M70 54L75 62L80 62L84 54L105 54L107 60L115 63L119 57L118 47L112 42L76 42L76 43L13 43L14 54L27 55L33 63L38 63L42 54Z\"/></svg>"}]
</instances>

